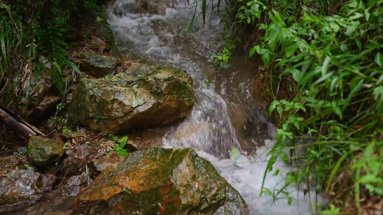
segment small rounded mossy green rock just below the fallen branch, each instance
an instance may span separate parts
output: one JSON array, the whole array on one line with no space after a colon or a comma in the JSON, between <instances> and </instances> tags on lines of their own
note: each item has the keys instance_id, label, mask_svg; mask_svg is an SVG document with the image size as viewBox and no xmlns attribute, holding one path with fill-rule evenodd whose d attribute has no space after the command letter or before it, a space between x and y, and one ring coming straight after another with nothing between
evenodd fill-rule
<instances>
[{"instance_id":1,"label":"small rounded mossy green rock just below the fallen branch","mask_svg":"<svg viewBox=\"0 0 383 215\"><path fill-rule=\"evenodd\" d=\"M36 166L46 166L56 162L64 154L64 142L33 136L28 141L27 157Z\"/></svg>"}]
</instances>

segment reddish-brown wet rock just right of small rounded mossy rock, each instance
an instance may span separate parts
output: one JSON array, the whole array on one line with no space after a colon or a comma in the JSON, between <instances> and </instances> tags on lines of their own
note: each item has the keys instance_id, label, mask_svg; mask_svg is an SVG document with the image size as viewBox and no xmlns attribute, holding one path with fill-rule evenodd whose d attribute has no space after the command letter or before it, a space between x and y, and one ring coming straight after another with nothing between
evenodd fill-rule
<instances>
[{"instance_id":1,"label":"reddish-brown wet rock just right of small rounded mossy rock","mask_svg":"<svg viewBox=\"0 0 383 215\"><path fill-rule=\"evenodd\" d=\"M61 174L72 175L83 172L88 162L96 156L97 146L93 142L87 142L82 145L75 145L65 151L66 158L63 159Z\"/></svg>"}]
</instances>

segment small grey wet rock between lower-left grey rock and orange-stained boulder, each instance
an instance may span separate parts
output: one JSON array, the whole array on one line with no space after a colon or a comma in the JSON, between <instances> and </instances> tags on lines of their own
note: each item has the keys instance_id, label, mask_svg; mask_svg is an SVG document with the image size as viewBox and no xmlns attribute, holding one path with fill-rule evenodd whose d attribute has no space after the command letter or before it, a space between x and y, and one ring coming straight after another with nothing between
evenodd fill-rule
<instances>
[{"instance_id":1,"label":"small grey wet rock between lower-left grey rock and orange-stained boulder","mask_svg":"<svg viewBox=\"0 0 383 215\"><path fill-rule=\"evenodd\" d=\"M68 179L67 183L65 184L64 189L62 190L62 195L76 196L77 194L79 194L81 189L90 184L90 182L92 182L92 179L86 172L83 172L79 176L72 176Z\"/></svg>"}]
</instances>

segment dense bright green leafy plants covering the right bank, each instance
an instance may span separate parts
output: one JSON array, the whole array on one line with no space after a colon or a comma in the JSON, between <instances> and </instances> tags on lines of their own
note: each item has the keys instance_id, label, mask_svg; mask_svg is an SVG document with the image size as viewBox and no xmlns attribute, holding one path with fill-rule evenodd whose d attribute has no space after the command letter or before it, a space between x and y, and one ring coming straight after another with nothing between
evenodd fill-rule
<instances>
[{"instance_id":1,"label":"dense bright green leafy plants covering the right bank","mask_svg":"<svg viewBox=\"0 0 383 215\"><path fill-rule=\"evenodd\" d=\"M285 187L316 184L316 192L330 199L321 214L367 214L363 205L379 204L383 195L383 1L237 4L237 26L257 34L249 57L262 59L268 76L290 80L289 99L270 92L270 113L277 111L281 120L266 172L278 157L286 164L303 160ZM213 58L223 55L228 62L227 49ZM285 189L263 191L291 202Z\"/></svg>"}]
</instances>

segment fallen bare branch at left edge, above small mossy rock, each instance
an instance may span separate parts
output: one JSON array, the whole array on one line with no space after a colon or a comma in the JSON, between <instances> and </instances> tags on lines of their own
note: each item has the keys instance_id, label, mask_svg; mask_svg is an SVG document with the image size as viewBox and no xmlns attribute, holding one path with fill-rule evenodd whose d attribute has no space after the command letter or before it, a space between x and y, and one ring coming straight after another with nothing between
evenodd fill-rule
<instances>
[{"instance_id":1,"label":"fallen bare branch at left edge, above small mossy rock","mask_svg":"<svg viewBox=\"0 0 383 215\"><path fill-rule=\"evenodd\" d=\"M13 116L11 116L11 114ZM11 111L2 104L0 104L0 119L4 121L7 125L9 125L12 129L23 135L23 137L29 138L32 136L36 136L37 134L46 137L46 135L43 134L43 132L39 131L33 125L30 125L28 122L25 122L15 112Z\"/></svg>"}]
</instances>

